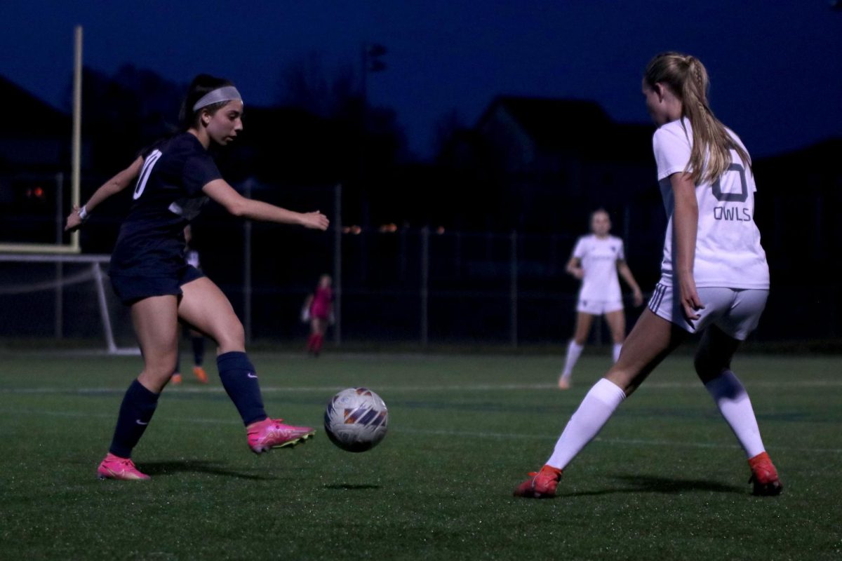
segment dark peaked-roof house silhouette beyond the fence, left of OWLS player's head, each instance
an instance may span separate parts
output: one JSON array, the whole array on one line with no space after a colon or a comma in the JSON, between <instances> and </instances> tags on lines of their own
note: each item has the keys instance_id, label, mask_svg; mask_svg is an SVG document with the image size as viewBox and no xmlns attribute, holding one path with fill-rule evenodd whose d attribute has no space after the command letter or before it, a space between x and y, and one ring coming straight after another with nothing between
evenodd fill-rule
<instances>
[{"instance_id":1,"label":"dark peaked-roof house silhouette beyond the fence, left of OWLS player's head","mask_svg":"<svg viewBox=\"0 0 842 561\"><path fill-rule=\"evenodd\" d=\"M590 210L621 220L629 205L653 198L652 133L612 121L591 101L501 96L454 135L440 163L455 183L481 183L465 188L498 201L498 229L566 233L586 227Z\"/></svg>"}]
</instances>

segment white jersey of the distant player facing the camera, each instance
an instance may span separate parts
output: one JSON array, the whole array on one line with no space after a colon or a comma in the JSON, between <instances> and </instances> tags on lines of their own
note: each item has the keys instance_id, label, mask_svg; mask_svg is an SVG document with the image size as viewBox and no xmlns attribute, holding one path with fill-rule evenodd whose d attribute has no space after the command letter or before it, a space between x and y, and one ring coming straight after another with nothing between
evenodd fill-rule
<instances>
[{"instance_id":1,"label":"white jersey of the distant player facing the camera","mask_svg":"<svg viewBox=\"0 0 842 561\"><path fill-rule=\"evenodd\" d=\"M621 300L617 280L617 261L625 259L623 241L616 236L582 236L573 249L573 257L582 262L584 278L579 300Z\"/></svg>"}]
</instances>

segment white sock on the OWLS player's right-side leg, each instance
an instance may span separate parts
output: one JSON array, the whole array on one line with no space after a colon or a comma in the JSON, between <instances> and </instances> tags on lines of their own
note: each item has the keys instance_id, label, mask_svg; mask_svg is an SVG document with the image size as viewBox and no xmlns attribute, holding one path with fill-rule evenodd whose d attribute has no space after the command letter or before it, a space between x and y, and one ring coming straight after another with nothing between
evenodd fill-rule
<instances>
[{"instance_id":1,"label":"white sock on the OWLS player's right-side leg","mask_svg":"<svg viewBox=\"0 0 842 561\"><path fill-rule=\"evenodd\" d=\"M760 429L754 417L754 409L749 394L740 384L739 378L726 370L717 378L705 384L708 393L717 403L719 411L725 417L734 435L749 458L754 458L765 451L760 439Z\"/></svg>"}]
</instances>

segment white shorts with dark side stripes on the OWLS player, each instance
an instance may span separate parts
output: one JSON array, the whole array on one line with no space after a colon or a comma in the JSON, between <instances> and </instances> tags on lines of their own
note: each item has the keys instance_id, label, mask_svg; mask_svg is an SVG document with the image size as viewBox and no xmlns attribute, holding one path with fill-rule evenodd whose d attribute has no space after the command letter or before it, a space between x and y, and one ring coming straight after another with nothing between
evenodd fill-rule
<instances>
[{"instance_id":1,"label":"white shorts with dark side stripes on the OWLS player","mask_svg":"<svg viewBox=\"0 0 842 561\"><path fill-rule=\"evenodd\" d=\"M757 327L769 297L769 290L757 288L696 288L705 308L696 312L698 320L690 321L685 318L679 299L674 298L678 294L674 288L658 283L649 299L649 310L690 333L716 325L738 341L745 341Z\"/></svg>"}]
</instances>

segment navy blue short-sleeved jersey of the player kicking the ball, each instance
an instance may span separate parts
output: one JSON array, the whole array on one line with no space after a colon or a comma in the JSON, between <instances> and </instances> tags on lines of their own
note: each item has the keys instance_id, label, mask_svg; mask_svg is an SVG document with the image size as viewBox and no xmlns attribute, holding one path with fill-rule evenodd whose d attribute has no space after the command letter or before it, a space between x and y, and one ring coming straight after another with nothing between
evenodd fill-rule
<instances>
[{"instance_id":1,"label":"navy blue short-sleeved jersey of the player kicking the ball","mask_svg":"<svg viewBox=\"0 0 842 561\"><path fill-rule=\"evenodd\" d=\"M143 152L134 203L120 226L111 275L166 277L184 267L184 226L207 197L202 188L221 178L199 139L182 133Z\"/></svg>"}]
</instances>

